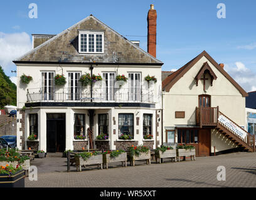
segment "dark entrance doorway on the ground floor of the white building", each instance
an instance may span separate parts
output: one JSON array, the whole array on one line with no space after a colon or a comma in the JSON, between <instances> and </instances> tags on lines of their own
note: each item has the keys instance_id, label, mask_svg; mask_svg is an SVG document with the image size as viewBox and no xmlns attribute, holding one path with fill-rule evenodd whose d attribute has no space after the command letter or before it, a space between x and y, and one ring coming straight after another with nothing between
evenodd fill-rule
<instances>
[{"instance_id":1,"label":"dark entrance doorway on the ground floor of the white building","mask_svg":"<svg viewBox=\"0 0 256 200\"><path fill-rule=\"evenodd\" d=\"M65 114L46 115L47 152L63 152L66 146Z\"/></svg>"}]
</instances>

